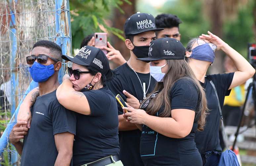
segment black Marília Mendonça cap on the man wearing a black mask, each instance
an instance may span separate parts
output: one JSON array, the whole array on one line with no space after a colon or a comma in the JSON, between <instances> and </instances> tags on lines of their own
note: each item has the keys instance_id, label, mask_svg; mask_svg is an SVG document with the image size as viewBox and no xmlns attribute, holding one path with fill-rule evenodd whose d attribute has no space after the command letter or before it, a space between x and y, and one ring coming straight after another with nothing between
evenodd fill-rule
<instances>
[{"instance_id":1,"label":"black Mar\u00edlia Mendon\u00e7a cap on the man wearing a black mask","mask_svg":"<svg viewBox=\"0 0 256 166\"><path fill-rule=\"evenodd\" d=\"M147 31L161 31L163 28L156 28L155 18L148 13L137 12L133 14L124 24L125 35L136 35Z\"/></svg>"}]
</instances>

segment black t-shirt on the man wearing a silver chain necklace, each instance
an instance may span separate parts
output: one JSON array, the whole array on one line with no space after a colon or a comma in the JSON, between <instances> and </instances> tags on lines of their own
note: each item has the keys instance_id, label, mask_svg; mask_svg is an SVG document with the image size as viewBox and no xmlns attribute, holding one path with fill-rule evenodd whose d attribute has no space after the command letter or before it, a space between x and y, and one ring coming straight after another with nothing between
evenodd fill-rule
<instances>
[{"instance_id":1,"label":"black t-shirt on the man wearing a silver chain necklace","mask_svg":"<svg viewBox=\"0 0 256 166\"><path fill-rule=\"evenodd\" d=\"M155 79L151 77L149 85L150 74L138 73L141 83L135 74L135 72L127 65L127 63L119 66L114 70L114 77L107 82L107 86L110 91L116 96L120 94L121 97L126 101L126 96L123 94L123 90L126 90L133 96L135 96L140 102L143 100L143 89L141 83L146 83L146 91L149 86L147 94L149 94L154 86ZM119 103L118 115L123 114L123 110ZM120 153L119 157L125 166L142 166L143 162L140 157L140 137L141 131L130 130L130 131L119 131L119 143L120 143Z\"/></svg>"}]
</instances>

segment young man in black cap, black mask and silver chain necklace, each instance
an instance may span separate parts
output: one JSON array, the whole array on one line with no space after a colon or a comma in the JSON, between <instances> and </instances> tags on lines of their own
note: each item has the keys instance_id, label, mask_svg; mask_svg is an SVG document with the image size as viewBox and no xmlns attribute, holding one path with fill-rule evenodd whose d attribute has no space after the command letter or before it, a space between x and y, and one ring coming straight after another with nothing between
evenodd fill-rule
<instances>
[{"instance_id":1,"label":"young man in black cap, black mask and silver chain necklace","mask_svg":"<svg viewBox=\"0 0 256 166\"><path fill-rule=\"evenodd\" d=\"M149 43L156 38L155 31L160 30L163 29L157 29L154 17L147 13L133 14L125 22L125 44L130 50L130 59L114 70L115 75L107 86L115 96L121 95L133 107L138 107L138 100L141 102L154 88L156 81L149 74L149 63L137 58L148 57ZM136 125L126 122L122 114L118 104L119 157L125 166L141 166L141 131Z\"/></svg>"}]
</instances>

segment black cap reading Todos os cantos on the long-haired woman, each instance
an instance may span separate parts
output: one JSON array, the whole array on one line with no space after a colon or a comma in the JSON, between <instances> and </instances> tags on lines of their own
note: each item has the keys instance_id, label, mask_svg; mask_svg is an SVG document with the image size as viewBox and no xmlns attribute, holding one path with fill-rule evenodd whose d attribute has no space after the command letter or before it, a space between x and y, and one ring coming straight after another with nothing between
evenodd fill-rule
<instances>
[{"instance_id":1,"label":"black cap reading Todos os cantos on the long-haired woman","mask_svg":"<svg viewBox=\"0 0 256 166\"><path fill-rule=\"evenodd\" d=\"M186 49L180 41L165 37L151 41L149 44L149 57L138 59L142 61L184 59L185 53Z\"/></svg>"}]
</instances>

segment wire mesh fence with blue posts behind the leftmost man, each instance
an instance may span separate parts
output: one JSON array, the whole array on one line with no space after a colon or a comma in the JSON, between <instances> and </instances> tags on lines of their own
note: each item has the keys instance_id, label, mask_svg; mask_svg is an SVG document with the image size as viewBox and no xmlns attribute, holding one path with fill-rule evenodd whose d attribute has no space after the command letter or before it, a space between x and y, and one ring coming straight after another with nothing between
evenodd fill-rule
<instances>
[{"instance_id":1,"label":"wire mesh fence with blue posts behind the leftmost man","mask_svg":"<svg viewBox=\"0 0 256 166\"><path fill-rule=\"evenodd\" d=\"M10 123L16 123L15 110L32 81L25 57L40 40L56 41L64 54L70 55L70 34L67 0L0 1L0 144L2 137L7 139L2 165L19 164L17 152L8 143L10 129L7 133L4 130Z\"/></svg>"}]
</instances>

